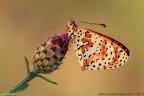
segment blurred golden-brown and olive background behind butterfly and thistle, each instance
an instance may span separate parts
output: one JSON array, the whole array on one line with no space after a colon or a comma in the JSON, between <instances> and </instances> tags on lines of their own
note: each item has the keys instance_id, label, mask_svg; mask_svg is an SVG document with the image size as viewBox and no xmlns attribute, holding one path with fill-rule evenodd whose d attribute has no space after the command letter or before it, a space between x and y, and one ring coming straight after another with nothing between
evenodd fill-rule
<instances>
[{"instance_id":1,"label":"blurred golden-brown and olive background behind butterfly and thistle","mask_svg":"<svg viewBox=\"0 0 144 96\"><path fill-rule=\"evenodd\" d=\"M25 74L37 46L64 32L69 18L105 23L107 28L78 24L122 42L131 51L128 62L113 70L81 71L72 48L60 70L39 78L18 96L98 96L106 92L144 92L143 0L0 0L0 92ZM32 64L31 64L32 67Z\"/></svg>"}]
</instances>

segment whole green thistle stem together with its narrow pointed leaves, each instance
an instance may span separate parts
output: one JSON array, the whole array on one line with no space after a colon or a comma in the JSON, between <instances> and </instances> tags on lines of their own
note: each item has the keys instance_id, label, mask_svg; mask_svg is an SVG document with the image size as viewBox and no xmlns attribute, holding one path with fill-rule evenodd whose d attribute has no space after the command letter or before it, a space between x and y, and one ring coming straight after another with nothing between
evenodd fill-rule
<instances>
[{"instance_id":1,"label":"whole green thistle stem together with its narrow pointed leaves","mask_svg":"<svg viewBox=\"0 0 144 96\"><path fill-rule=\"evenodd\" d=\"M17 92L20 92L20 91L24 91L27 87L28 87L28 83L34 79L35 77L39 77L49 83L52 83L52 84L57 84L56 82L40 75L40 73L38 72L38 70L36 68L34 68L33 70L30 71L30 68L29 68L29 61L27 59L27 57L25 57L25 63L26 63L26 67L27 67L27 74L26 76L20 80L15 86L13 86L12 88L10 88L9 90L7 90L6 92L4 92L3 94L0 94L0 96L12 96L13 93L17 93ZM12 94L11 94L12 93ZM16 95L14 95L16 96Z\"/></svg>"}]
</instances>

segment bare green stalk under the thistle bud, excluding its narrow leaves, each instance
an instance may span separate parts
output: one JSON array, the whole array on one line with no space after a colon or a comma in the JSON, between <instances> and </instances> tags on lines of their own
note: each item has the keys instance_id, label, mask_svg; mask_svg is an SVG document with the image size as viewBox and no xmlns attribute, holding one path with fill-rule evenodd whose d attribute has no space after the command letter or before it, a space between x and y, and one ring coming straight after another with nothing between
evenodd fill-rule
<instances>
[{"instance_id":1,"label":"bare green stalk under the thistle bud, excluding its narrow leaves","mask_svg":"<svg viewBox=\"0 0 144 96\"><path fill-rule=\"evenodd\" d=\"M11 89L9 89L8 91L6 91L6 93L16 93L17 89L20 88L21 86L27 84L28 82L30 82L32 79L34 79L35 77L37 77L38 72L36 70L32 70L30 71L30 74L27 74L22 80L20 80L14 87L12 87Z\"/></svg>"}]
</instances>

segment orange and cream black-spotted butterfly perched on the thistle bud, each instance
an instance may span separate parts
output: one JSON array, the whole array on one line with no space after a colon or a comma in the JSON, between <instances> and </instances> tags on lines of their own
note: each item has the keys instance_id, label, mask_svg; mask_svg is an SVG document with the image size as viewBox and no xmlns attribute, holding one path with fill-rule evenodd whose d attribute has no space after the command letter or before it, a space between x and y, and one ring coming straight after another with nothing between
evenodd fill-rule
<instances>
[{"instance_id":1,"label":"orange and cream black-spotted butterfly perched on the thistle bud","mask_svg":"<svg viewBox=\"0 0 144 96\"><path fill-rule=\"evenodd\" d=\"M99 32L81 28L76 22L69 19L66 32L83 71L114 69L127 62L130 51L122 43ZM106 27L105 24L97 25Z\"/></svg>"}]
</instances>

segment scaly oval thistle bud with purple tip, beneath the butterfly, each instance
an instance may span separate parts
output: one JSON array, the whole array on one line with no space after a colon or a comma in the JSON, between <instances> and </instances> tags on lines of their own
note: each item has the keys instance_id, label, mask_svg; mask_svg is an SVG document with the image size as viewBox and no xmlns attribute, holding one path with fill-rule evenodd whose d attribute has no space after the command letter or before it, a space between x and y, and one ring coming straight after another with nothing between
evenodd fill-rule
<instances>
[{"instance_id":1,"label":"scaly oval thistle bud with purple tip, beneath the butterfly","mask_svg":"<svg viewBox=\"0 0 144 96\"><path fill-rule=\"evenodd\" d=\"M62 64L68 51L69 39L67 33L62 33L43 42L32 58L34 68L39 73L51 73Z\"/></svg>"}]
</instances>

